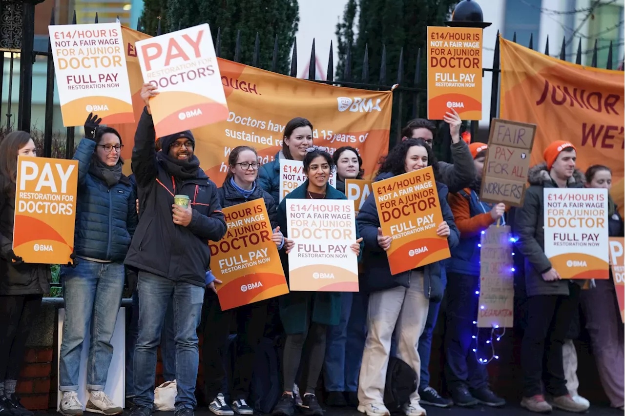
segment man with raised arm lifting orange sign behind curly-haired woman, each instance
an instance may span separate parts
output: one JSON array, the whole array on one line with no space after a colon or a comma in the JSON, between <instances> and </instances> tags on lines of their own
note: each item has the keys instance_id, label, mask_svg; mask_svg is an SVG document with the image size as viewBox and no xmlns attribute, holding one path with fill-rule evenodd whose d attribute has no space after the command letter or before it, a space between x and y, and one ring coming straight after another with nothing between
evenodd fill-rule
<instances>
[{"instance_id":1,"label":"man with raised arm lifting orange sign behind curly-haired woman","mask_svg":"<svg viewBox=\"0 0 625 416\"><path fill-rule=\"evenodd\" d=\"M462 120L458 113L451 109L444 116L444 121L449 124L449 134L451 134L451 157L453 164L447 162L438 162L439 179L438 181L446 185L450 193L462 191L466 187L470 187L475 176L475 166L473 157L469 151L467 143L461 139L460 127ZM422 139L427 146L432 147L434 142L434 134L436 127L431 121L425 119L412 120L401 131L404 139L412 137L413 139ZM442 289L447 286L447 274L445 270L445 262L441 264L441 282ZM429 385L429 361L432 350L432 332L436 327L438 312L441 308L441 302L430 301L429 311L427 312L426 326L423 334L419 338L419 357L421 357L421 377L419 382L419 395L421 396L421 404L436 407L450 407L453 402L449 399L441 397L441 395ZM395 347L395 345L393 345ZM392 349L393 351L395 348Z\"/></svg>"}]
</instances>

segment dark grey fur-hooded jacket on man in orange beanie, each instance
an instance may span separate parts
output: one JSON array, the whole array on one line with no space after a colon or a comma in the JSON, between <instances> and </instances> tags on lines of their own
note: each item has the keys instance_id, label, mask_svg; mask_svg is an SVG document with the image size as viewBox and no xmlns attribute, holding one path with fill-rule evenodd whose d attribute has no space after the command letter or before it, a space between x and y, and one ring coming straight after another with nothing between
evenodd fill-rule
<instances>
[{"instance_id":1,"label":"dark grey fur-hooded jacket on man in orange beanie","mask_svg":"<svg viewBox=\"0 0 625 416\"><path fill-rule=\"evenodd\" d=\"M547 164L531 167L527 181L529 188L523 206L516 209L514 224L518 233L518 247L525 257L525 285L527 296L569 295L569 284L583 285L585 280L557 280L546 282L542 274L551 269L551 262L544 253L544 188L557 187L549 176ZM584 186L584 174L576 170L567 187Z\"/></svg>"}]
</instances>

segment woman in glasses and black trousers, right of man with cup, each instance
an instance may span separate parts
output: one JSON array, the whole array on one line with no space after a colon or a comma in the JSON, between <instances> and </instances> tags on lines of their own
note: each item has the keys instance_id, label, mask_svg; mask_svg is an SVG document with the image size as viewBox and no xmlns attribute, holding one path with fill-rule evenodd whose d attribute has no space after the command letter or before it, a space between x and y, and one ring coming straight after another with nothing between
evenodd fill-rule
<instances>
[{"instance_id":1,"label":"woman in glasses and black trousers, right of man with cup","mask_svg":"<svg viewBox=\"0 0 625 416\"><path fill-rule=\"evenodd\" d=\"M217 190L222 208L236 206L247 201L263 199L269 215L269 222L274 229L271 239L281 249L284 237L276 228L276 202L257 184L258 156L249 146L232 149L228 157L228 173L224 184ZM261 300L235 309L221 310L217 294L207 290L204 300L204 344L202 361L204 364L204 382L206 397L212 400L209 410L219 416L251 415L254 409L248 404L249 387L254 370L254 355L257 345L264 334L267 321L268 300ZM236 357L231 377L226 375L226 352L230 326L234 319L237 327ZM226 380L226 383L224 383ZM230 399L223 393L223 387L229 387ZM232 407L228 405L232 403Z\"/></svg>"}]
</instances>

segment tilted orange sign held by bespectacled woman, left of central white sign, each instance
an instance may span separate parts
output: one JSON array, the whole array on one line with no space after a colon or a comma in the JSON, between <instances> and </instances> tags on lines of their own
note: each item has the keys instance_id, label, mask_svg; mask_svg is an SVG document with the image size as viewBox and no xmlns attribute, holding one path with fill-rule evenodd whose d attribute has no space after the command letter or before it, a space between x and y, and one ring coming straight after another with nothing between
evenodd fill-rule
<instances>
[{"instance_id":1,"label":"tilted orange sign held by bespectacled woman, left of central white sign","mask_svg":"<svg viewBox=\"0 0 625 416\"><path fill-rule=\"evenodd\" d=\"M222 210L226 235L209 242L212 274L223 282L216 285L221 310L289 293L264 200Z\"/></svg>"}]
</instances>

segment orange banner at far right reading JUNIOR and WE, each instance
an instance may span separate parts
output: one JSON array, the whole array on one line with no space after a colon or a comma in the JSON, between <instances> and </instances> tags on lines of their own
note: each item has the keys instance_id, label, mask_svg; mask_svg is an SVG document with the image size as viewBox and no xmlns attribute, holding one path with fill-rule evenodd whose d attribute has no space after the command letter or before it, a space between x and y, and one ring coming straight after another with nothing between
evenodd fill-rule
<instances>
[{"instance_id":1,"label":"orange banner at far right reading JUNIOR and WE","mask_svg":"<svg viewBox=\"0 0 625 416\"><path fill-rule=\"evenodd\" d=\"M625 213L625 72L571 64L499 37L502 119L537 125L531 165L556 139L577 147L577 167L612 169L611 195Z\"/></svg>"}]
</instances>

